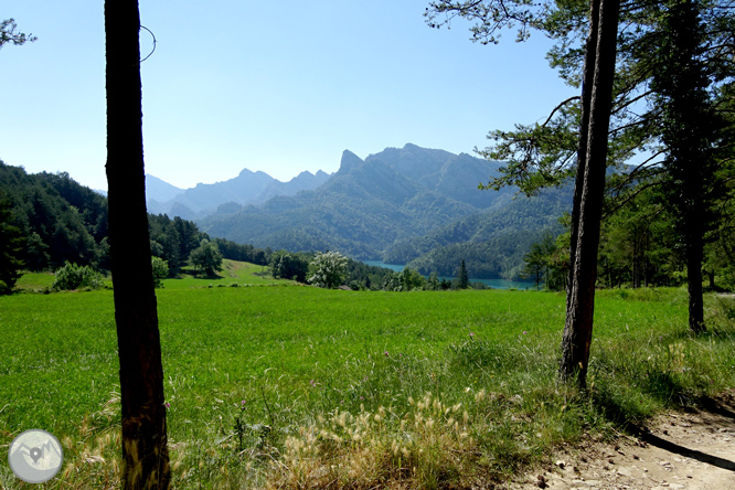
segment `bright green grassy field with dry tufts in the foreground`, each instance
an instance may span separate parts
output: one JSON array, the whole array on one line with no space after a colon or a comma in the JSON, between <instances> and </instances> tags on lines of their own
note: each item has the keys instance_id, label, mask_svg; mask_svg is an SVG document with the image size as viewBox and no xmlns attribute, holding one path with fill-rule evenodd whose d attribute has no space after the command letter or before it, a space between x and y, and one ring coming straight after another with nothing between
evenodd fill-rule
<instances>
[{"instance_id":1,"label":"bright green grassy field with dry tufts in the foreground","mask_svg":"<svg viewBox=\"0 0 735 490\"><path fill-rule=\"evenodd\" d=\"M216 287L262 279L231 266L157 290L177 488L500 481L735 386L735 309L715 298L691 339L682 290L601 291L578 394L555 382L562 295ZM51 430L66 461L45 488L114 484L111 291L2 297L0 335L0 446ZM18 481L0 466L0 486Z\"/></svg>"}]
</instances>

